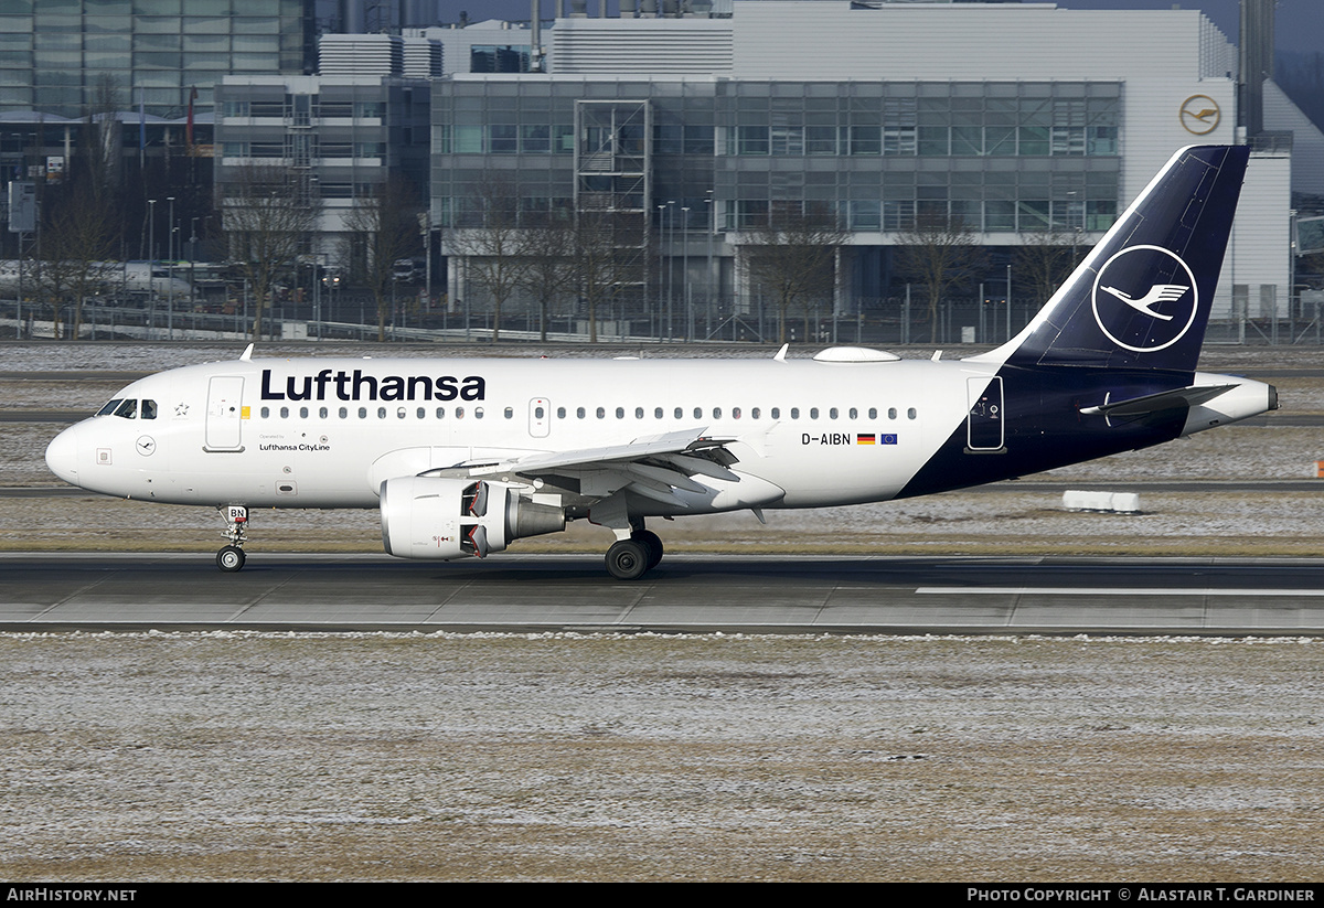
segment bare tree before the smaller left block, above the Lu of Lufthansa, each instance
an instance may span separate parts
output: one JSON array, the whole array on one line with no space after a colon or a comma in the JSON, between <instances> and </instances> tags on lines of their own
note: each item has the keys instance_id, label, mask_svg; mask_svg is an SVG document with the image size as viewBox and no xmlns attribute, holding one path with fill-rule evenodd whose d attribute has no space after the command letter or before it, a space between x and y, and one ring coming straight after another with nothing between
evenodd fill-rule
<instances>
[{"instance_id":1,"label":"bare tree before the smaller left block, above the Lu of Lufthansa","mask_svg":"<svg viewBox=\"0 0 1324 908\"><path fill-rule=\"evenodd\" d=\"M249 165L218 184L221 218L230 258L253 290L253 338L262 334L262 315L277 277L294 267L316 228L320 205L295 173L282 167Z\"/></svg>"}]
</instances>

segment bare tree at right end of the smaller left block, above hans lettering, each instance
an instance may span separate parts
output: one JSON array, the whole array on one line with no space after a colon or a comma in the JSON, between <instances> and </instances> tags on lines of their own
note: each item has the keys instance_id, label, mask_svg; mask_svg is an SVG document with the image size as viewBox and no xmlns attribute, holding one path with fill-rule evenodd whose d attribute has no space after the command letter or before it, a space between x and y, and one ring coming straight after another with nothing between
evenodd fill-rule
<instances>
[{"instance_id":1,"label":"bare tree at right end of the smaller left block, above hans lettering","mask_svg":"<svg viewBox=\"0 0 1324 908\"><path fill-rule=\"evenodd\" d=\"M377 304L377 340L387 339L396 261L420 250L418 212L422 200L408 181L391 177L371 196L355 200L344 218L351 273Z\"/></svg>"}]
</instances>

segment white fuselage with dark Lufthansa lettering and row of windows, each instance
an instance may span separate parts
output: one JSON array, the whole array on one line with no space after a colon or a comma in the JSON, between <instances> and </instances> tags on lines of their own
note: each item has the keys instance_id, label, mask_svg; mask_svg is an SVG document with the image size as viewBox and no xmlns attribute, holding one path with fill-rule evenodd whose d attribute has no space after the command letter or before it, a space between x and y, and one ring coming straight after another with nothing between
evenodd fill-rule
<instances>
[{"instance_id":1,"label":"white fuselage with dark Lufthansa lettering and row of windows","mask_svg":"<svg viewBox=\"0 0 1324 908\"><path fill-rule=\"evenodd\" d=\"M892 498L965 420L969 380L996 369L928 360L236 360L135 381L117 400L152 401L154 418L139 408L134 418L86 420L52 445L48 462L78 486L135 499L376 507L381 482L395 477L702 430L733 439L731 469L745 483L703 510L850 504Z\"/></svg>"}]
</instances>

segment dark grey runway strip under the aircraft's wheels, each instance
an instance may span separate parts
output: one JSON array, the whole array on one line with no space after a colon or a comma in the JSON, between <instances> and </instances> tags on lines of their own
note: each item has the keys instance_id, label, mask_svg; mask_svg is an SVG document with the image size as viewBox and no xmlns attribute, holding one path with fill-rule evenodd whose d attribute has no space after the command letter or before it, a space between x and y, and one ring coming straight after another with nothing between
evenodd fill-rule
<instances>
[{"instance_id":1,"label":"dark grey runway strip under the aircraft's wheels","mask_svg":"<svg viewBox=\"0 0 1324 908\"><path fill-rule=\"evenodd\" d=\"M0 556L0 630L1324 634L1307 559Z\"/></svg>"}]
</instances>

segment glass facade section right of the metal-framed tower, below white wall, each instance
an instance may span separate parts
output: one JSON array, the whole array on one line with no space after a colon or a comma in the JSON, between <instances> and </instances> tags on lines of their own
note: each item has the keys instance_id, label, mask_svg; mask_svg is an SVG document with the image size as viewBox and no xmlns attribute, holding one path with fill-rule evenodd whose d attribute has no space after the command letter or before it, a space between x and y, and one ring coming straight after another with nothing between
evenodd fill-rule
<instances>
[{"instance_id":1,"label":"glass facade section right of the metal-framed tower, below white wall","mask_svg":"<svg viewBox=\"0 0 1324 908\"><path fill-rule=\"evenodd\" d=\"M723 82L715 195L726 229L779 205L851 230L918 216L985 232L1106 230L1117 213L1116 82Z\"/></svg>"}]
</instances>

